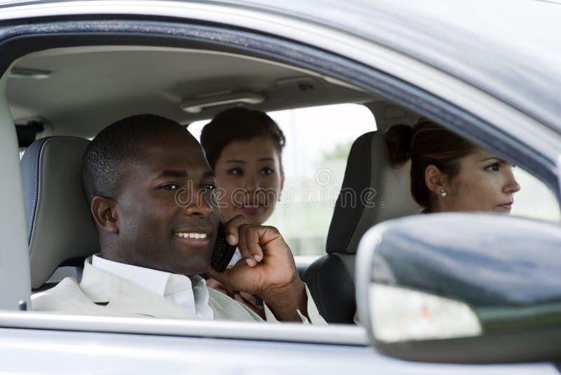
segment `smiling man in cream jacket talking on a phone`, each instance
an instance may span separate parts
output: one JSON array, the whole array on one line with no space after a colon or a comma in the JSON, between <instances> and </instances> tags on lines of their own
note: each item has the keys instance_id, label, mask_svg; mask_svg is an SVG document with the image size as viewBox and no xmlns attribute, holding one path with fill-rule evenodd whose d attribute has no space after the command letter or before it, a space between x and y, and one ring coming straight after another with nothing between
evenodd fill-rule
<instances>
[{"instance_id":1,"label":"smiling man in cream jacket talking on a phone","mask_svg":"<svg viewBox=\"0 0 561 375\"><path fill-rule=\"evenodd\" d=\"M81 282L69 277L35 294L34 310L261 320L207 289L198 275L208 272L260 296L268 321L325 324L276 228L236 216L224 227L243 260L224 272L209 266L220 218L215 178L201 145L175 121L142 114L111 124L88 146L82 179L101 254L86 260Z\"/></svg>"}]
</instances>

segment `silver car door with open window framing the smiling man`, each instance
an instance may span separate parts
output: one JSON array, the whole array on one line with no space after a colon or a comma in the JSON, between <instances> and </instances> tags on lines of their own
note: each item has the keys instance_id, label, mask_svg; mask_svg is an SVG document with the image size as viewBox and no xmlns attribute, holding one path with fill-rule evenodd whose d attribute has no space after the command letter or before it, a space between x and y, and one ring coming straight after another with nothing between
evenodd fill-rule
<instances>
[{"instance_id":1,"label":"silver car door with open window framing the smiling man","mask_svg":"<svg viewBox=\"0 0 561 375\"><path fill-rule=\"evenodd\" d=\"M426 114L478 144L496 150L532 171L559 197L557 158L559 131L495 91L451 74L437 62L410 55L351 27L334 27L327 18L305 15L309 4L290 10L270 3L227 4L173 1L34 2L5 6L2 20L2 66L36 51L68 46L134 46L174 48L215 46L311 70L339 86L365 91ZM359 5L321 4L321 15L341 11L353 17ZM315 4L320 6L320 4ZM375 14L380 33L393 27L384 11ZM388 17L391 8L387 9ZM414 13L410 14L412 17ZM396 15L393 15L396 16ZM445 13L441 15L445 17ZM344 17L343 17L344 18ZM406 19L404 18L403 21ZM349 22L349 21L345 21ZM362 25L362 24L361 24ZM412 32L412 30L410 30ZM422 33L421 33L422 34ZM447 43L450 43L448 41ZM429 54L431 48L424 51ZM6 74L2 84L6 84ZM3 87L4 87L3 86ZM537 88L536 88L537 90ZM508 90L507 90L508 91ZM231 371L318 372L379 369L388 373L468 372L556 373L552 364L453 365L395 360L370 348L362 327L282 327L231 322L178 322L108 317L18 313L29 302L29 257L18 146L6 100L0 117L0 185L4 238L0 263L3 286L0 313L2 356L10 369L58 371ZM34 360L29 361L29 353ZM61 361L60 358L63 360Z\"/></svg>"}]
</instances>

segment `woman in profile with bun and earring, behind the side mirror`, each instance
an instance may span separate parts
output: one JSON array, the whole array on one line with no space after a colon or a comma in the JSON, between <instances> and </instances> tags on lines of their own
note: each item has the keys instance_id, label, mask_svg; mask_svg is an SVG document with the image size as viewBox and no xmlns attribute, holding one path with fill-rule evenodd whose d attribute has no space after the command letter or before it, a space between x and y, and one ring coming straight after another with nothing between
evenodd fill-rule
<instances>
[{"instance_id":1,"label":"woman in profile with bun and earring, behind the side mirror","mask_svg":"<svg viewBox=\"0 0 561 375\"><path fill-rule=\"evenodd\" d=\"M513 164L428 119L386 131L390 159L411 159L411 192L424 212L510 212L520 185Z\"/></svg>"}]
</instances>

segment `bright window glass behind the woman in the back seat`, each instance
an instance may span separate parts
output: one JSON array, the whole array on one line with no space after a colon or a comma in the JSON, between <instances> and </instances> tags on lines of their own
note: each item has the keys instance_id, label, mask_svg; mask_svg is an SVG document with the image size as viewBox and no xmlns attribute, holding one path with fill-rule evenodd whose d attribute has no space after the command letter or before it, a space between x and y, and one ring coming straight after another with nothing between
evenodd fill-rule
<instances>
[{"instance_id":1,"label":"bright window glass behind the woman in the back seat","mask_svg":"<svg viewBox=\"0 0 561 375\"><path fill-rule=\"evenodd\" d=\"M346 158L356 138L376 130L374 116L358 104L283 110L269 116L286 136L285 184L265 224L278 228L295 255L325 254ZM189 131L200 139L207 123L196 121Z\"/></svg>"}]
</instances>

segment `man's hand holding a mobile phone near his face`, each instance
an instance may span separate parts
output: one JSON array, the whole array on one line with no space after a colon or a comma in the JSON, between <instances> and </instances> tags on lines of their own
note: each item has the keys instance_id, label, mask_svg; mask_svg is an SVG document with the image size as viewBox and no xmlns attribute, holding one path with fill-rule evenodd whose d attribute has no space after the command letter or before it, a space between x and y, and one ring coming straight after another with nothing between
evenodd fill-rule
<instances>
[{"instance_id":1,"label":"man's hand holding a mobile phone near his face","mask_svg":"<svg viewBox=\"0 0 561 375\"><path fill-rule=\"evenodd\" d=\"M224 272L216 272L210 266L208 275L228 290L261 297L278 320L300 322L296 310L307 315L304 282L278 230L250 224L241 215L232 218L224 228L227 241L238 245L242 259Z\"/></svg>"}]
</instances>

